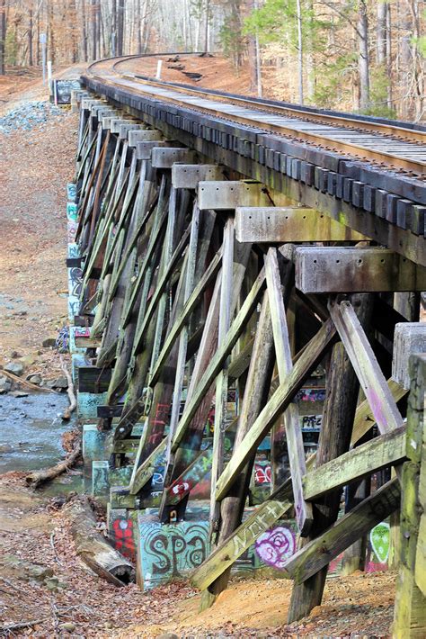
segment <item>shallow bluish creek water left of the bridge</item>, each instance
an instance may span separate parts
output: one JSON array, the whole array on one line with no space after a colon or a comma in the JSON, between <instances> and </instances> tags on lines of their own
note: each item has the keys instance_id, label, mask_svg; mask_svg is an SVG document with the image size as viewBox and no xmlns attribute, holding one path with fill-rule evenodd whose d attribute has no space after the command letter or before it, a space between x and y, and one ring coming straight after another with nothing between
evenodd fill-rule
<instances>
[{"instance_id":1,"label":"shallow bluish creek water left of the bridge","mask_svg":"<svg viewBox=\"0 0 426 639\"><path fill-rule=\"evenodd\" d=\"M0 395L0 473L58 463L65 455L61 435L74 426L60 417L68 404L67 394Z\"/></svg>"}]
</instances>

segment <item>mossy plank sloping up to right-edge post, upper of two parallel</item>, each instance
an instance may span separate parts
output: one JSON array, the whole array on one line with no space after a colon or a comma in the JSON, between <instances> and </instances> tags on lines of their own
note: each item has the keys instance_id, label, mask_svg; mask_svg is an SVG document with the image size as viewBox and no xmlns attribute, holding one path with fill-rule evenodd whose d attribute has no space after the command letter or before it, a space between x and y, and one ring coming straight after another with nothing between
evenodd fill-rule
<instances>
[{"instance_id":1,"label":"mossy plank sloping up to right-edge post, upper of two parallel","mask_svg":"<svg viewBox=\"0 0 426 639\"><path fill-rule=\"evenodd\" d=\"M303 477L305 499L315 501L329 491L400 464L406 457L405 440L405 427L396 428L315 468Z\"/></svg>"}]
</instances>

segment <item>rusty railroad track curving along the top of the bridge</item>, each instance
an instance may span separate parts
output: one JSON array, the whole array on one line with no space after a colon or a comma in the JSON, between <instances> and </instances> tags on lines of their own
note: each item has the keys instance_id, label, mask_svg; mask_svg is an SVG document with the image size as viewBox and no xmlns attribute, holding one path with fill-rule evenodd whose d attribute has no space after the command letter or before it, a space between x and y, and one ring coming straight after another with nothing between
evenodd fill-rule
<instances>
[{"instance_id":1,"label":"rusty railroad track curving along the top of the bridge","mask_svg":"<svg viewBox=\"0 0 426 639\"><path fill-rule=\"evenodd\" d=\"M93 63L88 70L94 79L132 93L146 94L164 103L184 106L225 121L303 141L346 157L401 171L405 175L422 179L426 176L426 127L422 125L380 118L362 119L358 115L226 94L155 80L126 68L130 60L146 57L101 60Z\"/></svg>"}]
</instances>

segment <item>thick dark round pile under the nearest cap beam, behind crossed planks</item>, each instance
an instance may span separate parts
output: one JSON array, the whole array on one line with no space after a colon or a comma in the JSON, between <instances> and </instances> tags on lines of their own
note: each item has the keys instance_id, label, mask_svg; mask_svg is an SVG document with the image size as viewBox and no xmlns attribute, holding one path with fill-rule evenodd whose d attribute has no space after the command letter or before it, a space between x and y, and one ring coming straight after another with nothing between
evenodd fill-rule
<instances>
[{"instance_id":1,"label":"thick dark round pile under the nearest cap beam, behind crossed planks","mask_svg":"<svg viewBox=\"0 0 426 639\"><path fill-rule=\"evenodd\" d=\"M352 302L362 323L368 323L371 298L368 295L353 296ZM343 344L339 342L333 347L328 365L323 424L316 452L317 467L349 449L358 393L357 375ZM321 504L317 504L310 539L321 535L337 519L340 500L341 491L333 491ZM306 617L312 608L321 604L327 570L328 565L303 583L293 586L288 609L289 624Z\"/></svg>"}]
</instances>

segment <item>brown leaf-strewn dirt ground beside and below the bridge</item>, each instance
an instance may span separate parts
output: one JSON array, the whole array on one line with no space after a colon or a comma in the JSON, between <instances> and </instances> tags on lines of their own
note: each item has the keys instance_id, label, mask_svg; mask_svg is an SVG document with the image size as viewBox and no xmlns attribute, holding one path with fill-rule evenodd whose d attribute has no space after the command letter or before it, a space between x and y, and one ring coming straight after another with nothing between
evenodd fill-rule
<instances>
[{"instance_id":1,"label":"brown leaf-strewn dirt ground beside and below the bridge","mask_svg":"<svg viewBox=\"0 0 426 639\"><path fill-rule=\"evenodd\" d=\"M203 64L209 86L244 91L247 77L228 69L224 85L223 62ZM0 82L3 112L44 96L31 74ZM1 136L0 365L15 351L29 358L27 370L47 376L58 356L41 343L67 321L65 187L74 173L75 131L76 116L65 111L44 130ZM36 578L30 564L50 570ZM200 614L200 594L184 583L143 593L102 581L77 559L58 501L30 491L22 474L0 476L0 636L382 637L394 590L392 572L331 579L323 605L287 626L288 581L234 581Z\"/></svg>"}]
</instances>

